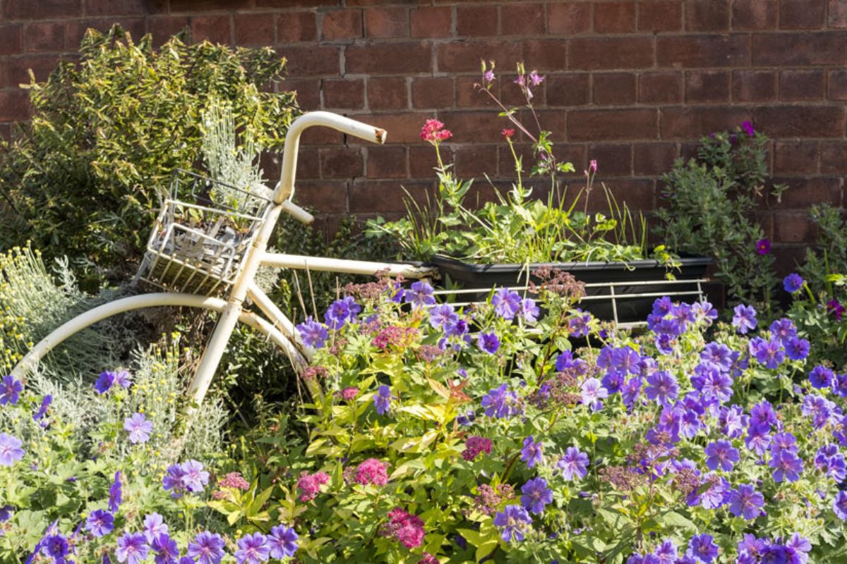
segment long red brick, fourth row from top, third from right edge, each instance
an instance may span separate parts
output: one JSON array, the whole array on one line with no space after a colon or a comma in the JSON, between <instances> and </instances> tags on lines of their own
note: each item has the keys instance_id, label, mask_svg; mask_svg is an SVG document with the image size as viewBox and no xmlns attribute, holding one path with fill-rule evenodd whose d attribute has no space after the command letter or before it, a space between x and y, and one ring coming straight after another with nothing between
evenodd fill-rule
<instances>
[{"instance_id":1,"label":"long red brick, fourth row from top, third from right edge","mask_svg":"<svg viewBox=\"0 0 847 564\"><path fill-rule=\"evenodd\" d=\"M656 139L655 110L577 110L567 113L572 141Z\"/></svg>"}]
</instances>

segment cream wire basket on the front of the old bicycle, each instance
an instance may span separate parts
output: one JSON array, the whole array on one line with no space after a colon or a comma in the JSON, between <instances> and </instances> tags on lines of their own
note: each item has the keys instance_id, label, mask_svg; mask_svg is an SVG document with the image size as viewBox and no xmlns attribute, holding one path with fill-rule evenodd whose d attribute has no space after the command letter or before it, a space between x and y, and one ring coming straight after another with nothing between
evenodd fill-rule
<instances>
[{"instance_id":1,"label":"cream wire basket on the front of the old bicycle","mask_svg":"<svg viewBox=\"0 0 847 564\"><path fill-rule=\"evenodd\" d=\"M189 194L189 201L180 200ZM228 203L221 203L221 196ZM224 293L265 221L270 190L174 170L136 279L171 292ZM230 205L231 204L231 205Z\"/></svg>"}]
</instances>

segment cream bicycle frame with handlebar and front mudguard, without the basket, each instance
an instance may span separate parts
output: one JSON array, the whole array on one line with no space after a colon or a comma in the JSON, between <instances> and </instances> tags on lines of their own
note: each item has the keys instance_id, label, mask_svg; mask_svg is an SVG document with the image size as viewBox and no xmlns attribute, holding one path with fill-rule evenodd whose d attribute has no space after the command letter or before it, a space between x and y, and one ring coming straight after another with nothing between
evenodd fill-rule
<instances>
[{"instance_id":1,"label":"cream bicycle frame with handlebar and front mudguard, without the basket","mask_svg":"<svg viewBox=\"0 0 847 564\"><path fill-rule=\"evenodd\" d=\"M314 126L337 129L342 133L378 144L384 143L386 137L385 129L375 128L331 112L306 113L291 123L285 138L280 182L274 189L273 203L268 205L264 211L263 225L259 228L251 248L247 251L241 271L235 276L230 293L225 299L208 298L188 293L149 293L102 304L67 321L47 337L44 337L14 367L13 375L22 377L59 343L87 326L112 315L147 307L180 305L198 307L217 311L220 314L212 337L210 337L203 351L200 365L197 367L191 386L189 386L188 392L191 399L199 405L208 392L208 387L218 369L226 344L229 342L232 331L235 330L235 325L238 322L246 323L261 331L286 353L298 372L305 368L311 359L311 351L297 336L294 324L254 282L259 266L364 275L374 275L381 271L387 272L389 276L408 278L435 277L436 271L434 269L420 266L268 253L268 240L280 218L280 213L288 213L303 223L313 221L313 216L293 204L291 197L295 190L297 150L300 146L300 136L304 130ZM242 309L247 298L250 298L270 321Z\"/></svg>"}]
</instances>

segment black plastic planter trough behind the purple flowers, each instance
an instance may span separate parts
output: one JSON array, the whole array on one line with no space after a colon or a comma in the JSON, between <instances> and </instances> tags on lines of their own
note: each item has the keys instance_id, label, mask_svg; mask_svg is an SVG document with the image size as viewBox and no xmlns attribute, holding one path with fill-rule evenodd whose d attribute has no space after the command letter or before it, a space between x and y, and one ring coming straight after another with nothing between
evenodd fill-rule
<instances>
[{"instance_id":1,"label":"black plastic planter trough behind the purple flowers","mask_svg":"<svg viewBox=\"0 0 847 564\"><path fill-rule=\"evenodd\" d=\"M638 326L645 323L656 298L667 295L674 301L687 302L703 298L702 285L708 282L706 269L712 260L684 257L679 261L682 265L672 271L675 280L666 279L667 269L658 260L534 263L529 265L529 271L549 266L570 272L585 283L580 308L601 320ZM444 256L435 256L431 263L438 268L442 281L450 283L447 293L455 293L460 303L483 301L494 287L527 287L525 265L469 264ZM453 288L457 286L461 289Z\"/></svg>"}]
</instances>

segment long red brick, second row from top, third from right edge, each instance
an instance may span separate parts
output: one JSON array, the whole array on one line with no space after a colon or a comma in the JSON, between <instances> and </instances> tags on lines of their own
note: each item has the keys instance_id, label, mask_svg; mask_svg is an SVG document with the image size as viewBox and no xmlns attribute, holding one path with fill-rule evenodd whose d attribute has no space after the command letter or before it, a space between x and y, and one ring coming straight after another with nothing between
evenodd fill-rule
<instances>
[{"instance_id":1,"label":"long red brick, second row from top, third from right edge","mask_svg":"<svg viewBox=\"0 0 847 564\"><path fill-rule=\"evenodd\" d=\"M573 39L570 68L645 68L653 66L653 40L647 37Z\"/></svg>"}]
</instances>

